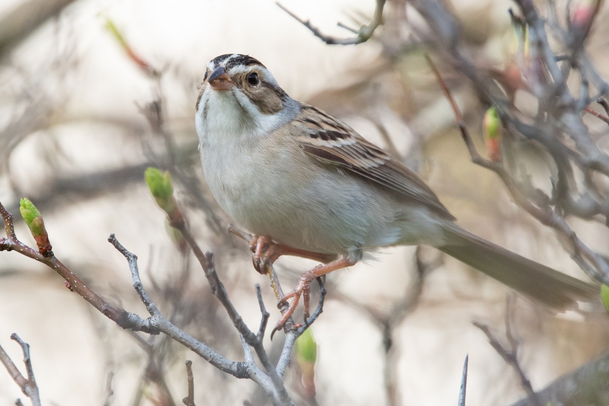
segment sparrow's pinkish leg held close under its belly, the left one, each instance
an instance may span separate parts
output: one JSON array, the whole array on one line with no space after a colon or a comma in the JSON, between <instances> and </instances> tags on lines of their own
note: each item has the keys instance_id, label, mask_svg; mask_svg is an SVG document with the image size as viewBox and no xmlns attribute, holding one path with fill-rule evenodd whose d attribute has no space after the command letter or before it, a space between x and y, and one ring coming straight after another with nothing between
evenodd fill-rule
<instances>
[{"instance_id":1,"label":"sparrow's pinkish leg held close under its belly, the left one","mask_svg":"<svg viewBox=\"0 0 609 406\"><path fill-rule=\"evenodd\" d=\"M272 266L281 255L300 256L301 258L308 258L309 260L322 263L329 263L336 259L334 254L292 248L284 244L275 243L270 237L262 235L253 235L249 245L253 253L252 262L254 268L262 275L267 273L267 266Z\"/></svg>"}]
</instances>

